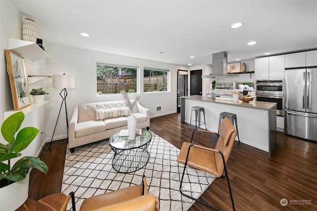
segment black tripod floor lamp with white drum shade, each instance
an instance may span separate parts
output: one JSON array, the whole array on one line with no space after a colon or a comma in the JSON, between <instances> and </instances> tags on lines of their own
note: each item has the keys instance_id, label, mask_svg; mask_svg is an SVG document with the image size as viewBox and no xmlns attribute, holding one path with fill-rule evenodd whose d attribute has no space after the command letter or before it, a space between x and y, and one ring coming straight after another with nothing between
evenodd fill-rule
<instances>
[{"instance_id":1,"label":"black tripod floor lamp with white drum shade","mask_svg":"<svg viewBox=\"0 0 317 211\"><path fill-rule=\"evenodd\" d=\"M52 79L53 79L53 88L62 88L62 90L59 92L59 95L61 96L61 98L63 100L61 101L61 104L60 104L60 109L59 109L59 112L58 112L58 116L57 116L56 124L55 124L55 127L54 127L52 140L51 140L50 145L49 145L49 149L51 149L51 145L52 145L55 129L56 129L56 126L57 126L57 123L58 123L60 111L61 111L61 109L63 107L63 104L65 104L66 126L67 126L67 141L68 141L68 117L67 117L67 107L66 107L67 90L66 90L66 88L75 88L75 77L74 76L65 75L65 74L63 74L63 75L52 75Z\"/></svg>"}]
</instances>

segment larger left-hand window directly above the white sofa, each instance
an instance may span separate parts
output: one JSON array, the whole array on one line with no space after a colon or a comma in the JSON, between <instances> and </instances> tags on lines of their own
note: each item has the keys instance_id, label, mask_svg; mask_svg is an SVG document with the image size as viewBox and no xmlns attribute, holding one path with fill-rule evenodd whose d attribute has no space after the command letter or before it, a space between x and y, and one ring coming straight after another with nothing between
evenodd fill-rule
<instances>
[{"instance_id":1,"label":"larger left-hand window directly above the white sofa","mask_svg":"<svg viewBox=\"0 0 317 211\"><path fill-rule=\"evenodd\" d=\"M97 63L97 94L137 93L136 67Z\"/></svg>"}]
</instances>

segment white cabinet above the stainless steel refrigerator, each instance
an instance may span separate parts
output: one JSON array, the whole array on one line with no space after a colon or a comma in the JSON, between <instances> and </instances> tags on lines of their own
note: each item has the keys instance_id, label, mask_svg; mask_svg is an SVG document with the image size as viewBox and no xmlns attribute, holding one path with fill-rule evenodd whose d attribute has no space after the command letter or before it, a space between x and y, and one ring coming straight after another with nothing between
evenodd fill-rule
<instances>
[{"instance_id":1,"label":"white cabinet above the stainless steel refrigerator","mask_svg":"<svg viewBox=\"0 0 317 211\"><path fill-rule=\"evenodd\" d=\"M285 68L317 66L317 50L285 55Z\"/></svg>"}]
</instances>

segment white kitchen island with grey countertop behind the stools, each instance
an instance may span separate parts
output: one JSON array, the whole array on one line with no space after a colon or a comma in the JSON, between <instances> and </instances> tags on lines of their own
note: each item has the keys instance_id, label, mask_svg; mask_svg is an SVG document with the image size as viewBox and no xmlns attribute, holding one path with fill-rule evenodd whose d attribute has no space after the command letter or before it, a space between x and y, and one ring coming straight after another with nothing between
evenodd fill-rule
<instances>
[{"instance_id":1,"label":"white kitchen island with grey countertop behind the stools","mask_svg":"<svg viewBox=\"0 0 317 211\"><path fill-rule=\"evenodd\" d=\"M220 113L236 114L240 142L261 149L267 152L268 156L271 155L276 144L276 103L261 102L255 99L250 103L244 103L241 100L232 102L201 95L185 96L181 97L182 123L190 123L193 106L204 107L206 127L208 130L216 132ZM201 120L203 121L204 118L202 117Z\"/></svg>"}]
</instances>

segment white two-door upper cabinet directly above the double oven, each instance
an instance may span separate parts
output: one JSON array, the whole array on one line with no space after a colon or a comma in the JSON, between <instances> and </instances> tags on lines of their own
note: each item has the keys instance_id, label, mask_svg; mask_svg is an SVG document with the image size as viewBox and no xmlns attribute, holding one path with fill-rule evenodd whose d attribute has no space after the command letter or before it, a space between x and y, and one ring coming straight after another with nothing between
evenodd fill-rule
<instances>
[{"instance_id":1,"label":"white two-door upper cabinet directly above the double oven","mask_svg":"<svg viewBox=\"0 0 317 211\"><path fill-rule=\"evenodd\" d=\"M284 55L255 59L255 79L284 79Z\"/></svg>"}]
</instances>

